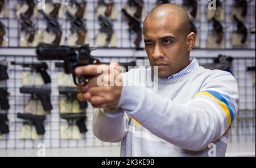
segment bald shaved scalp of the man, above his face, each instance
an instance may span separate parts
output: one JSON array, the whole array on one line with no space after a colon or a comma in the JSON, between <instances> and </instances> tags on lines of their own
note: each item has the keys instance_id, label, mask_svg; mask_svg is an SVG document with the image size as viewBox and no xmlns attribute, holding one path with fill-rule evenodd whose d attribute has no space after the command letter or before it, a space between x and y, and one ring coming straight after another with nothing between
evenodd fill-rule
<instances>
[{"instance_id":1,"label":"bald shaved scalp of the man, above his face","mask_svg":"<svg viewBox=\"0 0 256 168\"><path fill-rule=\"evenodd\" d=\"M166 3L153 8L143 23L143 31L150 22L159 21L174 24L176 30L187 36L191 32L187 11L181 6Z\"/></svg>"}]
</instances>

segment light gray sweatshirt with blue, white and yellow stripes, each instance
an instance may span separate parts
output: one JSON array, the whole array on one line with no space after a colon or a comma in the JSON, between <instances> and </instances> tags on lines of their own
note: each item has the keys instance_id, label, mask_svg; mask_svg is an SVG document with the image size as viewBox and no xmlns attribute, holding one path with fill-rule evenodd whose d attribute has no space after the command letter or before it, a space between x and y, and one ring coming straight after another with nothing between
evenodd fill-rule
<instances>
[{"instance_id":1,"label":"light gray sweatshirt with blue, white and yellow stripes","mask_svg":"<svg viewBox=\"0 0 256 168\"><path fill-rule=\"evenodd\" d=\"M174 79L155 75L156 90L146 83L151 76L151 68L123 74L117 110L96 109L94 135L121 141L121 156L225 156L238 111L236 79L199 66Z\"/></svg>"}]
</instances>

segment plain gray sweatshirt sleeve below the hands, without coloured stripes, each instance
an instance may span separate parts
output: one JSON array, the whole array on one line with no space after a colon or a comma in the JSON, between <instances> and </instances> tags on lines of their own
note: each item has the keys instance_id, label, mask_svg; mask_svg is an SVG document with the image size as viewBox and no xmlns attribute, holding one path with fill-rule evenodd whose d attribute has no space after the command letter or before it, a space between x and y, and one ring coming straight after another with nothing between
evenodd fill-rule
<instances>
[{"instance_id":1,"label":"plain gray sweatshirt sleeve below the hands, without coloured stripes","mask_svg":"<svg viewBox=\"0 0 256 168\"><path fill-rule=\"evenodd\" d=\"M93 133L106 142L122 141L127 133L129 117L122 110L110 112L108 109L96 109L93 115Z\"/></svg>"}]
</instances>

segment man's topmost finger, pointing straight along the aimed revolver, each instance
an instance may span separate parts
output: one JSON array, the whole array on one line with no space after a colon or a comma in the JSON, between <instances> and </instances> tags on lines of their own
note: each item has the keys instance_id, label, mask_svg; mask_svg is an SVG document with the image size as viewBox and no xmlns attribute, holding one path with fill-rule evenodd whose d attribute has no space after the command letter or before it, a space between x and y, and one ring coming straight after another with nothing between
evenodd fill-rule
<instances>
[{"instance_id":1,"label":"man's topmost finger, pointing straight along the aimed revolver","mask_svg":"<svg viewBox=\"0 0 256 168\"><path fill-rule=\"evenodd\" d=\"M75 70L76 75L92 75L98 76L109 71L109 66L105 64L89 64L88 66L80 66Z\"/></svg>"}]
</instances>

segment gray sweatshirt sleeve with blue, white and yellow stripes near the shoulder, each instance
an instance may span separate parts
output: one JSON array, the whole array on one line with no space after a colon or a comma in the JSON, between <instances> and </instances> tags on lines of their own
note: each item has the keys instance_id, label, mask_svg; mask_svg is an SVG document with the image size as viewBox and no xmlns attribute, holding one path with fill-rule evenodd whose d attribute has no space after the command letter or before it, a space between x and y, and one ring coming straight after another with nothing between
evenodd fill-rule
<instances>
[{"instance_id":1,"label":"gray sweatshirt sleeve with blue, white and yellow stripes near the shoulder","mask_svg":"<svg viewBox=\"0 0 256 168\"><path fill-rule=\"evenodd\" d=\"M118 106L156 136L183 149L203 150L224 135L238 109L236 79L228 72L214 71L186 104L146 87L125 86Z\"/></svg>"}]
</instances>

